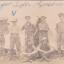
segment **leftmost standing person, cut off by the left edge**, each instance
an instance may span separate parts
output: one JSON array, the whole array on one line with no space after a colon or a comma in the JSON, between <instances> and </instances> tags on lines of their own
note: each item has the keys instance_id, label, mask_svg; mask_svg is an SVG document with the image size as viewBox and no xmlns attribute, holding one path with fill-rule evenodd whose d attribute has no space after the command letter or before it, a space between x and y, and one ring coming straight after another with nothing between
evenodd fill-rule
<instances>
[{"instance_id":1,"label":"leftmost standing person, cut off by the left edge","mask_svg":"<svg viewBox=\"0 0 64 64\"><path fill-rule=\"evenodd\" d=\"M8 33L7 19L0 18L0 53L4 52L5 47L5 35Z\"/></svg>"}]
</instances>

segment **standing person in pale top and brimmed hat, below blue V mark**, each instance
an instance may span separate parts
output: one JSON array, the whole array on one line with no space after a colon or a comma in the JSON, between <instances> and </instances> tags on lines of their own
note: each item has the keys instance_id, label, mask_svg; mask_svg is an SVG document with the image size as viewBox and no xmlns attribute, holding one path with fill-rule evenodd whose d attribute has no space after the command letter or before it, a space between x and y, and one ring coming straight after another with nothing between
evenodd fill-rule
<instances>
[{"instance_id":1,"label":"standing person in pale top and brimmed hat, below blue V mark","mask_svg":"<svg viewBox=\"0 0 64 64\"><path fill-rule=\"evenodd\" d=\"M19 27L17 26L17 19L13 19L12 21L12 26L10 28L10 48L11 48L11 54L14 54L14 49L16 46L16 54L19 56L20 55L20 36L19 36Z\"/></svg>"}]
</instances>

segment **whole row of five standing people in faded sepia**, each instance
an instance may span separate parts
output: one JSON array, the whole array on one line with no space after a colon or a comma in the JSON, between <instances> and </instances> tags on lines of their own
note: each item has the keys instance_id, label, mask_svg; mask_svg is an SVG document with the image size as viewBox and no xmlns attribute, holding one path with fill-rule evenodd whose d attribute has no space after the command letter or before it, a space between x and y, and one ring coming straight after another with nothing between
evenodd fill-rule
<instances>
[{"instance_id":1,"label":"whole row of five standing people in faded sepia","mask_svg":"<svg viewBox=\"0 0 64 64\"><path fill-rule=\"evenodd\" d=\"M59 15L60 22L56 25L57 31L57 47L58 51L62 52L62 46L64 46L64 13L60 13ZM50 50L49 46L49 39L48 39L48 32L49 26L46 22L45 16L41 16L38 18L36 25L34 26L31 22L30 16L25 16L26 23L20 29L21 31L25 30L25 54L32 55L35 53L40 52L42 55L43 53L47 53ZM2 50L5 49L5 35L10 33L10 54L13 55L15 46L16 46L16 53L20 55L21 53L21 39L19 34L19 27L17 27L17 19L11 21L12 26L9 31L9 23L7 19L0 19L0 53ZM41 55L40 54L40 55Z\"/></svg>"}]
</instances>

